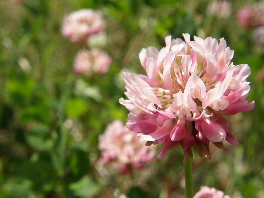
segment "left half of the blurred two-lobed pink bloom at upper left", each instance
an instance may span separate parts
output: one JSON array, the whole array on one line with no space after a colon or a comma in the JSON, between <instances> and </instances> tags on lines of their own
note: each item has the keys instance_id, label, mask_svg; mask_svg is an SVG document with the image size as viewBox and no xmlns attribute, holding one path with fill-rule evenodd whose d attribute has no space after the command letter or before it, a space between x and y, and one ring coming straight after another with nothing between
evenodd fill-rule
<instances>
[{"instance_id":1,"label":"left half of the blurred two-lobed pink bloom at upper left","mask_svg":"<svg viewBox=\"0 0 264 198\"><path fill-rule=\"evenodd\" d=\"M92 73L92 57L88 50L80 50L73 64L76 73L90 76Z\"/></svg>"}]
</instances>

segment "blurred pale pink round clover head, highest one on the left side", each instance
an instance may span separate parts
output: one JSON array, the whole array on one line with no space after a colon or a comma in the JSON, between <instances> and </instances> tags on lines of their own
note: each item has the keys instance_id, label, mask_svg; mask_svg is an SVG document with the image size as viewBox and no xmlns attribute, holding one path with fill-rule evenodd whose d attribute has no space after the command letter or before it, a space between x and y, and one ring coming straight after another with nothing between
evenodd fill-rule
<instances>
[{"instance_id":1,"label":"blurred pale pink round clover head, highest one on the left side","mask_svg":"<svg viewBox=\"0 0 264 198\"><path fill-rule=\"evenodd\" d=\"M92 9L82 9L65 16L62 24L62 34L72 42L87 42L89 35L104 31L105 21L101 12Z\"/></svg>"}]
</instances>

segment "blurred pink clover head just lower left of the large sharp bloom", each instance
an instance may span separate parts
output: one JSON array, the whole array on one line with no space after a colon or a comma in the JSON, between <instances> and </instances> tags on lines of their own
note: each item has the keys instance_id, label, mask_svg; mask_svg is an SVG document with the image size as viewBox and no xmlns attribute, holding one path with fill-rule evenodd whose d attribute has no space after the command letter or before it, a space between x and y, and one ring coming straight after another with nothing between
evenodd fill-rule
<instances>
[{"instance_id":1,"label":"blurred pink clover head just lower left of the large sharp bloom","mask_svg":"<svg viewBox=\"0 0 264 198\"><path fill-rule=\"evenodd\" d=\"M143 168L143 163L151 161L155 154L155 146L145 146L145 142L119 120L109 124L104 134L99 136L99 149L102 155L100 162L111 163L121 173Z\"/></svg>"}]
</instances>

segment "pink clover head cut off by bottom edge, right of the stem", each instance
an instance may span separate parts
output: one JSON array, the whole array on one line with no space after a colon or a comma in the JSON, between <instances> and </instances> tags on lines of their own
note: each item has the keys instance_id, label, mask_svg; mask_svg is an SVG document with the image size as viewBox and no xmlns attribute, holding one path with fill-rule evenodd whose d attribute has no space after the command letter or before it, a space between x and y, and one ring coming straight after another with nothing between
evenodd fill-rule
<instances>
[{"instance_id":1,"label":"pink clover head cut off by bottom edge, right of the stem","mask_svg":"<svg viewBox=\"0 0 264 198\"><path fill-rule=\"evenodd\" d=\"M201 189L194 195L194 198L230 198L230 196L224 195L224 192L221 190L202 186Z\"/></svg>"}]
</instances>

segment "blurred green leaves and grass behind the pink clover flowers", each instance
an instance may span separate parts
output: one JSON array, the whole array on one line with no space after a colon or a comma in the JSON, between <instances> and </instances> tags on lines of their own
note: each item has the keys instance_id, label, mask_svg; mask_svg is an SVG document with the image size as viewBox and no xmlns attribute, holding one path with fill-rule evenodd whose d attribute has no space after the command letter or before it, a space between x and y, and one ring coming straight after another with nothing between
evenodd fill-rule
<instances>
[{"instance_id":1,"label":"blurred green leaves and grass behind the pink clover flowers","mask_svg":"<svg viewBox=\"0 0 264 198\"><path fill-rule=\"evenodd\" d=\"M236 18L254 1L230 2L230 16L219 17L207 0L1 0L0 197L184 197L182 148L129 174L97 167L98 136L112 121L127 119L119 104L122 72L145 74L141 49L160 50L166 35L182 33L224 37L234 64L251 67L248 101L255 100L252 111L228 118L239 145L210 145L211 160L194 151L194 192L207 185L231 197L264 197L263 42ZM61 23L83 8L100 10L106 20L104 33L87 44L111 56L106 74L73 70L80 46L62 36Z\"/></svg>"}]
</instances>

